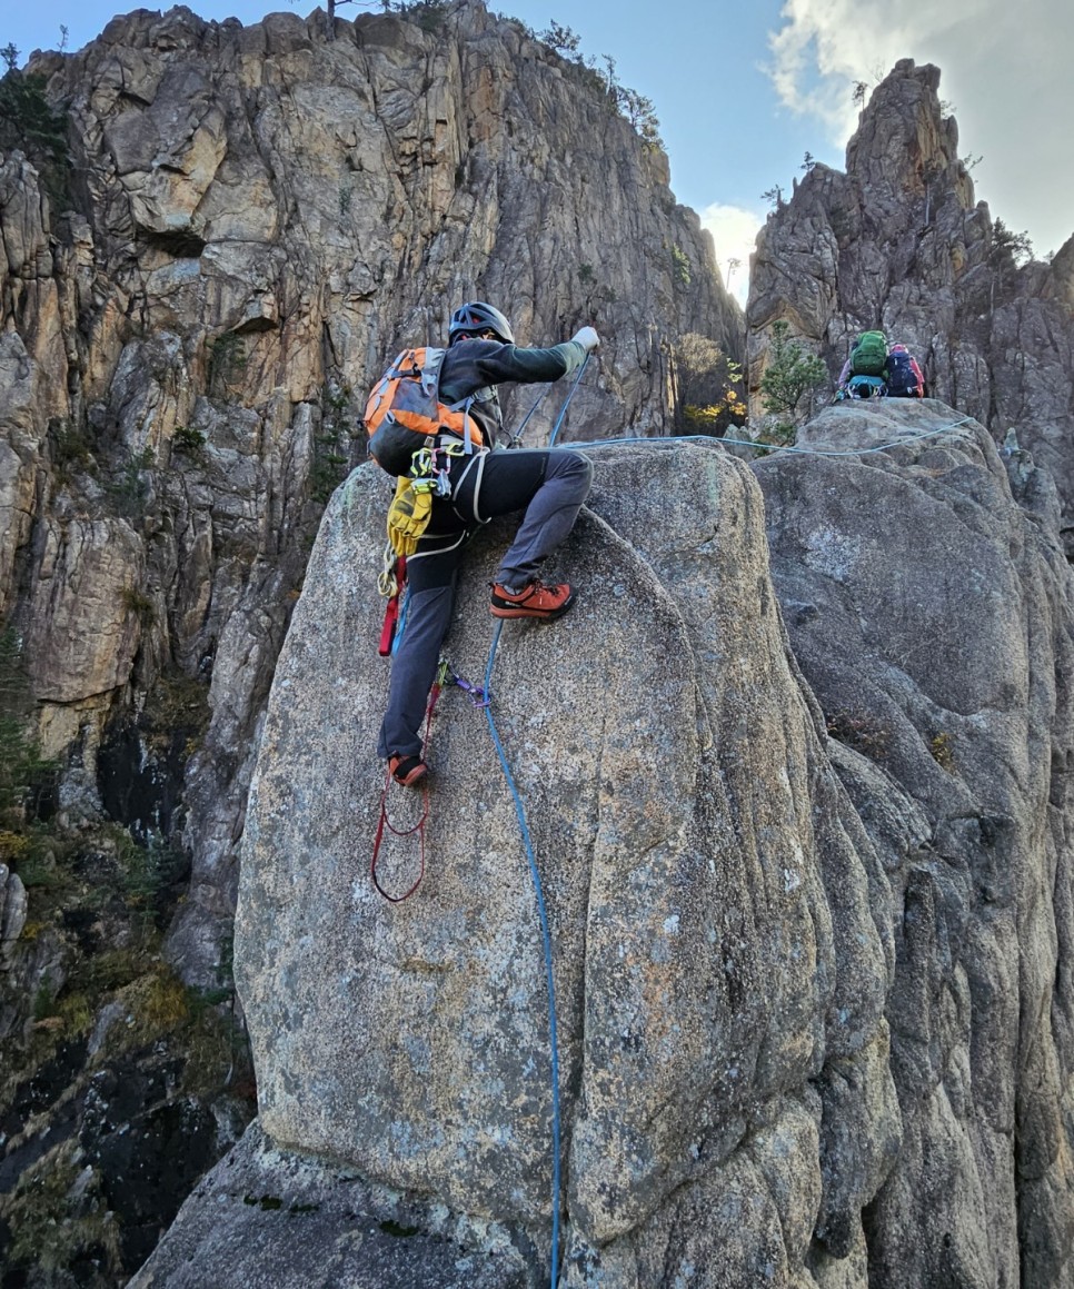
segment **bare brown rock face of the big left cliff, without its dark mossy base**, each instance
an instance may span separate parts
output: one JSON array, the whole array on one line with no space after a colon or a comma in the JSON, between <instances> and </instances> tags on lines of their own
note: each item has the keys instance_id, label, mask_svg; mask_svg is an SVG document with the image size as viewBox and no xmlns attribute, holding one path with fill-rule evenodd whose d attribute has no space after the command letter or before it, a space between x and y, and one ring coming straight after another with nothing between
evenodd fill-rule
<instances>
[{"instance_id":1,"label":"bare brown rock face of the big left cliff, without its dark mossy base","mask_svg":"<svg viewBox=\"0 0 1074 1289\"><path fill-rule=\"evenodd\" d=\"M76 209L0 156L0 612L32 652L45 750L73 753L72 820L157 679L206 684L171 936L201 984L288 614L387 357L474 294L527 343L594 322L571 438L663 425L681 333L741 352L712 240L600 77L478 3L423 21L364 14L329 40L320 12L138 10L34 62L70 120ZM155 755L135 751L132 773Z\"/></svg>"}]
</instances>

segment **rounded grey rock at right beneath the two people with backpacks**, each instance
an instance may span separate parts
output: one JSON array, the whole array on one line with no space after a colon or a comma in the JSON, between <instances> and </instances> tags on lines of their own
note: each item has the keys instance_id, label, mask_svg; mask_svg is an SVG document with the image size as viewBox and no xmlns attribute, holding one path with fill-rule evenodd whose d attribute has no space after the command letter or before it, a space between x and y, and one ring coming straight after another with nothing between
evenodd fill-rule
<instances>
[{"instance_id":1,"label":"rounded grey rock at right beneath the two people with backpacks","mask_svg":"<svg viewBox=\"0 0 1074 1289\"><path fill-rule=\"evenodd\" d=\"M845 403L798 443L957 419ZM973 422L757 474L794 656L893 895L904 1136L866 1217L869 1283L1068 1284L1074 588L1055 486Z\"/></svg>"}]
</instances>

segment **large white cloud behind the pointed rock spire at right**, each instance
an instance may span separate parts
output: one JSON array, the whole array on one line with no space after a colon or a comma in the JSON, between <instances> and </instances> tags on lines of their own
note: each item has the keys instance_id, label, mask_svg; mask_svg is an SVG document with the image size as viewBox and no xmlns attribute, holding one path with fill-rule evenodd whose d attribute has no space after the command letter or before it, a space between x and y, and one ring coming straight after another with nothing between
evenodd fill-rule
<instances>
[{"instance_id":1,"label":"large white cloud behind the pointed rock spire at right","mask_svg":"<svg viewBox=\"0 0 1074 1289\"><path fill-rule=\"evenodd\" d=\"M857 125L852 90L900 58L935 63L952 103L977 196L993 217L1028 228L1038 253L1074 233L1069 121L1069 0L786 0L767 71L780 103L817 119L842 147Z\"/></svg>"}]
</instances>

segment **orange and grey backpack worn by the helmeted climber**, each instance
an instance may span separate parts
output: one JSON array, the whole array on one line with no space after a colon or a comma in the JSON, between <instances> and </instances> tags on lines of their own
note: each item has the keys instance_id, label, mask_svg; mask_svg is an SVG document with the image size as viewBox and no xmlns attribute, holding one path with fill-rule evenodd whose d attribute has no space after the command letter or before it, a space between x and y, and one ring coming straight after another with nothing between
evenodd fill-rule
<instances>
[{"instance_id":1,"label":"orange and grey backpack worn by the helmeted climber","mask_svg":"<svg viewBox=\"0 0 1074 1289\"><path fill-rule=\"evenodd\" d=\"M432 347L404 349L366 400L362 420L369 451L389 474L410 473L414 454L431 446L428 434L458 434L468 452L483 446L481 427L469 415L472 400L451 407L440 401L440 369L446 352Z\"/></svg>"}]
</instances>

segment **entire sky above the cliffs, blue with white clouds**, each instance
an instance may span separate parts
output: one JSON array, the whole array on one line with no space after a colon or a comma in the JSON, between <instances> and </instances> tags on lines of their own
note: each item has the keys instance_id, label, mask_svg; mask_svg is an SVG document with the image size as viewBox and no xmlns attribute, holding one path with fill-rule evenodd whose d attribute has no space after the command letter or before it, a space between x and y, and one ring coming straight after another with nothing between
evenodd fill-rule
<instances>
[{"instance_id":1,"label":"entire sky above the cliffs, blue with white clouds","mask_svg":"<svg viewBox=\"0 0 1074 1289\"><path fill-rule=\"evenodd\" d=\"M0 44L23 58L98 35L113 0L5 3ZM192 0L204 18L257 22L286 0ZM306 14L312 4L291 12ZM376 0L346 5L379 9ZM933 62L959 125L977 200L1043 255L1074 235L1070 129L1071 0L489 0L536 32L552 21L580 52L610 55L621 84L652 101L676 197L712 228L717 259L747 264L774 184L789 192L808 151L842 169L856 122L855 81L870 88L899 58ZM739 294L745 268L731 278Z\"/></svg>"}]
</instances>

